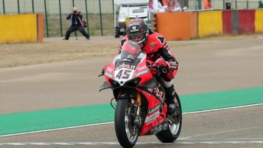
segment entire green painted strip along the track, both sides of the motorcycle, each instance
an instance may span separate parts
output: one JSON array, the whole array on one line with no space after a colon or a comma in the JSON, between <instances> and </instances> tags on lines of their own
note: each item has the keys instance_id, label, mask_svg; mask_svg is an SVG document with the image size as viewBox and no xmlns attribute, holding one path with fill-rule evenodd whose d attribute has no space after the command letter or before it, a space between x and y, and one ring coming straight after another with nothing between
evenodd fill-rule
<instances>
[{"instance_id":1,"label":"entire green painted strip along the track, both sides of the motorcycle","mask_svg":"<svg viewBox=\"0 0 263 148\"><path fill-rule=\"evenodd\" d=\"M180 100L184 113L260 104L263 87L183 95ZM0 136L112 122L114 112L110 104L101 104L0 115Z\"/></svg>"}]
</instances>

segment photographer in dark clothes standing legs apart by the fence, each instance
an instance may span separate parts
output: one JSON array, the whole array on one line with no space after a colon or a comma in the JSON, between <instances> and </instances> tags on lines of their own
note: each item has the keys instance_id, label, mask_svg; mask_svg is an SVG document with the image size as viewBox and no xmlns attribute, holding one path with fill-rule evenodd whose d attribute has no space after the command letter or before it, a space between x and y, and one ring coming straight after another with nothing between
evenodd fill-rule
<instances>
[{"instance_id":1,"label":"photographer in dark clothes standing legs apart by the fence","mask_svg":"<svg viewBox=\"0 0 263 148\"><path fill-rule=\"evenodd\" d=\"M70 34L76 30L79 30L83 36L86 37L87 40L90 39L90 35L87 34L87 32L84 29L84 26L82 24L82 13L77 9L77 7L73 7L72 13L70 13L66 19L69 20L68 30L66 32L66 36L63 40L68 40L70 37Z\"/></svg>"}]
</instances>

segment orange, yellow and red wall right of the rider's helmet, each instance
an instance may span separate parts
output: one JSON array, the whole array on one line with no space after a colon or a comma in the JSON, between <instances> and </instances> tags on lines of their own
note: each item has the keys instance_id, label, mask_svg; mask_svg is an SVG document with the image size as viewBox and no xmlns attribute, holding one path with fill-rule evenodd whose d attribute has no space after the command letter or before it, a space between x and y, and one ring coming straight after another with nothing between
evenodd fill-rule
<instances>
[{"instance_id":1,"label":"orange, yellow and red wall right of the rider's helmet","mask_svg":"<svg viewBox=\"0 0 263 148\"><path fill-rule=\"evenodd\" d=\"M189 13L193 13L189 15ZM197 16L197 18L191 16ZM208 10L156 13L154 31L167 40L223 34L263 33L263 10Z\"/></svg>"}]
</instances>

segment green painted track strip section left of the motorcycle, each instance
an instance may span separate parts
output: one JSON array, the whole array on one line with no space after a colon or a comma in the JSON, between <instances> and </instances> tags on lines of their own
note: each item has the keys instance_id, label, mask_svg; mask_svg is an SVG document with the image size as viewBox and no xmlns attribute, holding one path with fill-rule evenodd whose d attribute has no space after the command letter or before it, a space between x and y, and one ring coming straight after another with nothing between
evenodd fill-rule
<instances>
[{"instance_id":1,"label":"green painted track strip section left of the motorcycle","mask_svg":"<svg viewBox=\"0 0 263 148\"><path fill-rule=\"evenodd\" d=\"M0 135L112 122L109 104L0 115Z\"/></svg>"}]
</instances>

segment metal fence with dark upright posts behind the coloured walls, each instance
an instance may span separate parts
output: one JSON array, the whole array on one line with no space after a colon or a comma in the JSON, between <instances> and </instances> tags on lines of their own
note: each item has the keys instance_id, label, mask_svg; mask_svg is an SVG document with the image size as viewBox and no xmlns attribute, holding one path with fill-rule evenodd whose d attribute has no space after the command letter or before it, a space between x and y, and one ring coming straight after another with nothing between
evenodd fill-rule
<instances>
[{"instance_id":1,"label":"metal fence with dark upright posts behind the coloured walls","mask_svg":"<svg viewBox=\"0 0 263 148\"><path fill-rule=\"evenodd\" d=\"M184 0L188 10L202 10L203 0ZM263 6L259 0L212 0L213 9L256 9ZM63 36L67 30L66 16L76 6L88 22L91 36L114 35L114 0L0 0L0 15L44 13L44 37ZM117 6L118 8L118 6ZM117 21L118 22L118 21Z\"/></svg>"}]
</instances>

